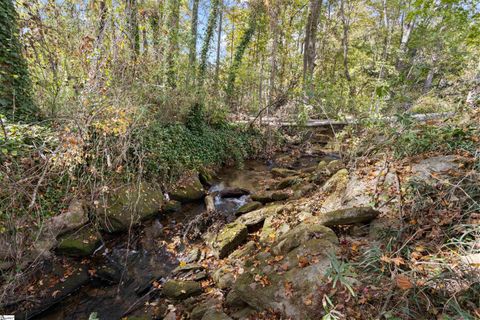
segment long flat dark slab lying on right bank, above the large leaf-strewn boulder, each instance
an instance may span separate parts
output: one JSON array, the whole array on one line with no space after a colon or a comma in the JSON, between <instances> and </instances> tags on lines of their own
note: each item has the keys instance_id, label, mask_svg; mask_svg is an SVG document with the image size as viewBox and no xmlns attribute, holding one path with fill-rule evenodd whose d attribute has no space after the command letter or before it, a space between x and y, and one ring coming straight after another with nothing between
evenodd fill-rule
<instances>
[{"instance_id":1,"label":"long flat dark slab lying on right bank, above the large leaf-strewn boulder","mask_svg":"<svg viewBox=\"0 0 480 320\"><path fill-rule=\"evenodd\" d=\"M380 212L372 207L353 207L321 213L318 216L318 219L320 224L332 227L337 225L370 222L379 214Z\"/></svg>"}]
</instances>

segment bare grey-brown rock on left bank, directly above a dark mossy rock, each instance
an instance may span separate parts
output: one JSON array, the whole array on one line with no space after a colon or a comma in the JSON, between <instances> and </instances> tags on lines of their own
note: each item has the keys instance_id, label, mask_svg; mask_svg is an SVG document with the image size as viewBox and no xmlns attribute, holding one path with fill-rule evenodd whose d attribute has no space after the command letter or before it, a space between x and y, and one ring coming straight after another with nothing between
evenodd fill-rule
<instances>
[{"instance_id":1,"label":"bare grey-brown rock on left bank, directly above a dark mossy rock","mask_svg":"<svg viewBox=\"0 0 480 320\"><path fill-rule=\"evenodd\" d=\"M67 211L52 217L45 223L46 229L54 236L71 232L87 224L88 215L83 200L74 199Z\"/></svg>"}]
</instances>

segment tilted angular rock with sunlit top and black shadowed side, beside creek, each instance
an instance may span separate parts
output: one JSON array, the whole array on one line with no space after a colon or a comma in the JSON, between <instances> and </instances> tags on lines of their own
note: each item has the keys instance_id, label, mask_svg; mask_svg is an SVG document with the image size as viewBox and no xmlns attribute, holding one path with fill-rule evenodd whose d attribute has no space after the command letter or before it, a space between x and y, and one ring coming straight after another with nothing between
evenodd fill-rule
<instances>
[{"instance_id":1,"label":"tilted angular rock with sunlit top and black shadowed side, beside creek","mask_svg":"<svg viewBox=\"0 0 480 320\"><path fill-rule=\"evenodd\" d=\"M233 222L227 224L215 237L212 243L212 249L215 256L223 259L235 250L248 236L246 225Z\"/></svg>"}]
</instances>

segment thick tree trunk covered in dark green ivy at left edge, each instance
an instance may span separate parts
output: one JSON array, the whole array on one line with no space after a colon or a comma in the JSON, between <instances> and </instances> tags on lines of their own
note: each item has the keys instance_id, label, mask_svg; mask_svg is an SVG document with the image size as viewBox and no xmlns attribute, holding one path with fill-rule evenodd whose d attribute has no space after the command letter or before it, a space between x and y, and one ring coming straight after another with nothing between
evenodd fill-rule
<instances>
[{"instance_id":1,"label":"thick tree trunk covered in dark green ivy at left edge","mask_svg":"<svg viewBox=\"0 0 480 320\"><path fill-rule=\"evenodd\" d=\"M34 104L27 64L18 40L17 13L12 0L0 0L0 113L12 120L34 120Z\"/></svg>"}]
</instances>

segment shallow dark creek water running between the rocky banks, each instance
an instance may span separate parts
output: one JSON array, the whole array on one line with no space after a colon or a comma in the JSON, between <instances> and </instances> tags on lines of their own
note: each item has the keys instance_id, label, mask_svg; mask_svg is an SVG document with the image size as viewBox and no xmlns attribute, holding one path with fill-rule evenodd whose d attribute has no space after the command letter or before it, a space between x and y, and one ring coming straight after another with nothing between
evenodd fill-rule
<instances>
[{"instance_id":1,"label":"shallow dark creek water running between the rocky banks","mask_svg":"<svg viewBox=\"0 0 480 320\"><path fill-rule=\"evenodd\" d=\"M311 167L320 159L329 158L325 154L303 151L279 153L273 161L268 162L246 161L242 168L223 168L209 192L216 193L227 187L260 191L273 181L270 172L272 167L285 167L282 161L286 158L290 160L288 167L291 169ZM225 220L231 221L235 219L235 211L248 201L248 195L238 198L221 198L217 195L214 203ZM96 313L98 319L108 320L121 319L127 314L135 315L133 311L148 302L152 282L165 281L185 258L185 246L179 241L180 235L188 222L204 210L202 201L185 204L180 211L148 221L129 235L107 235L104 246L88 262L89 269L106 268L108 272L104 279L93 277L94 280L86 282L63 301L41 313L37 312L34 319L88 319L92 313ZM175 250L171 250L172 246ZM112 278L111 283L109 278Z\"/></svg>"}]
</instances>

